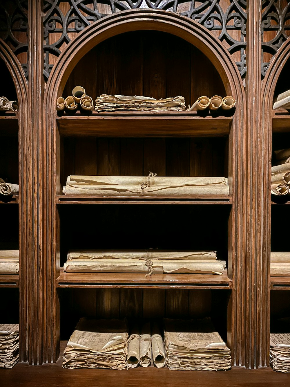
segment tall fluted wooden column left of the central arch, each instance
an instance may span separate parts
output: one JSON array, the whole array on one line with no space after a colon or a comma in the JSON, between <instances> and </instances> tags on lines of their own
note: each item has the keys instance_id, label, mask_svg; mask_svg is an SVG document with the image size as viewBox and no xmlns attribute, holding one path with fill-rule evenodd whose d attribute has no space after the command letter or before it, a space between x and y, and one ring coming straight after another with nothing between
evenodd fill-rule
<instances>
[{"instance_id":1,"label":"tall fluted wooden column left of the central arch","mask_svg":"<svg viewBox=\"0 0 290 387\"><path fill-rule=\"evenodd\" d=\"M27 198L27 361L43 363L45 340L45 297L42 262L42 125L43 125L43 26L41 1L28 1L29 24L29 126L27 127L26 162L23 192ZM48 301L49 302L49 301Z\"/></svg>"}]
</instances>

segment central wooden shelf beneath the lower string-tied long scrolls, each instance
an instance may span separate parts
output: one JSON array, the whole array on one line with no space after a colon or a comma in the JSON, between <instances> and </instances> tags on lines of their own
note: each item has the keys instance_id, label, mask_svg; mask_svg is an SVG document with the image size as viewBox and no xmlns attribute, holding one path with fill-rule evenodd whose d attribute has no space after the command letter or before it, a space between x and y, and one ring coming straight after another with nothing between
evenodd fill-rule
<instances>
[{"instance_id":1,"label":"central wooden shelf beneath the lower string-tied long scrolls","mask_svg":"<svg viewBox=\"0 0 290 387\"><path fill-rule=\"evenodd\" d=\"M181 288L231 289L232 280L223 274L153 274L143 273L65 273L56 279L57 288Z\"/></svg>"}]
</instances>

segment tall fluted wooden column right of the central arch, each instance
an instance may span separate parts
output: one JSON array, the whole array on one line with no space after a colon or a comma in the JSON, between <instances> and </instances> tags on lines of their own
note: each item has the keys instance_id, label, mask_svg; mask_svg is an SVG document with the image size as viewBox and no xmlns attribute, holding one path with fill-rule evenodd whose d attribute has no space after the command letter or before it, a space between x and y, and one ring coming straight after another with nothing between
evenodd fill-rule
<instances>
[{"instance_id":1,"label":"tall fluted wooden column right of the central arch","mask_svg":"<svg viewBox=\"0 0 290 387\"><path fill-rule=\"evenodd\" d=\"M246 200L246 276L244 278L245 365L264 365L265 332L268 317L264 308L268 281L263 267L263 214L268 193L263 187L263 148L261 146L261 0L247 2L247 76L244 194Z\"/></svg>"}]
</instances>

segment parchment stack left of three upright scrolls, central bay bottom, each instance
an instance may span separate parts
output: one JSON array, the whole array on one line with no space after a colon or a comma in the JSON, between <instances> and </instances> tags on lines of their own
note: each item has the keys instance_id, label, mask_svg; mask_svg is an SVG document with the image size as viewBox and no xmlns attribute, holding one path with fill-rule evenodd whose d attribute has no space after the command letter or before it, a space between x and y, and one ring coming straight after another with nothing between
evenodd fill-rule
<instances>
[{"instance_id":1,"label":"parchment stack left of three upright scrolls, central bay bottom","mask_svg":"<svg viewBox=\"0 0 290 387\"><path fill-rule=\"evenodd\" d=\"M126 368L128 328L125 320L78 322L63 352L64 368Z\"/></svg>"}]
</instances>

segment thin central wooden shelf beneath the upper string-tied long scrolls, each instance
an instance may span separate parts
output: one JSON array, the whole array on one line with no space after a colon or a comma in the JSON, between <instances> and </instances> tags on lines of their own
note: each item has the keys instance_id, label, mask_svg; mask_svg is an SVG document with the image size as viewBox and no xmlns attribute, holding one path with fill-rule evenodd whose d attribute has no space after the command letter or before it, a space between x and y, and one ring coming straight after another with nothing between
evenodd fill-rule
<instances>
[{"instance_id":1,"label":"thin central wooden shelf beneath the upper string-tied long scrolls","mask_svg":"<svg viewBox=\"0 0 290 387\"><path fill-rule=\"evenodd\" d=\"M232 196L75 196L56 195L57 204L232 204Z\"/></svg>"}]
</instances>

